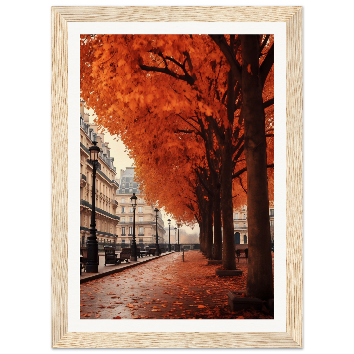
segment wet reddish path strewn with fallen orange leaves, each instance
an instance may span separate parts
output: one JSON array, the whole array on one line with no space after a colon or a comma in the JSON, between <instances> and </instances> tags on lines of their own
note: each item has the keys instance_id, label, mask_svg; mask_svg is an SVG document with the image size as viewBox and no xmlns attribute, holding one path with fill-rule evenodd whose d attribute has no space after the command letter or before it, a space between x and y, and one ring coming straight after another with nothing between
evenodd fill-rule
<instances>
[{"instance_id":1,"label":"wet reddish path strewn with fallen orange leaves","mask_svg":"<svg viewBox=\"0 0 354 354\"><path fill-rule=\"evenodd\" d=\"M81 284L80 318L273 319L265 306L238 312L228 307L229 290L246 289L245 258L236 260L243 273L234 277L216 276L220 265L207 265L201 252L185 252L184 260L176 252Z\"/></svg>"}]
</instances>

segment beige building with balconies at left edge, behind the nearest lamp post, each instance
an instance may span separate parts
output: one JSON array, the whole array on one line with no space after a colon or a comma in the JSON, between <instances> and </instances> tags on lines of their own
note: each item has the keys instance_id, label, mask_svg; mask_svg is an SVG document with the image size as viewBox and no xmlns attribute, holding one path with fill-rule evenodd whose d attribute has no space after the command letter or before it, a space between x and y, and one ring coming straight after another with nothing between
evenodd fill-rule
<instances>
[{"instance_id":1,"label":"beige building with balconies at left edge, behind the nearest lamp post","mask_svg":"<svg viewBox=\"0 0 354 354\"><path fill-rule=\"evenodd\" d=\"M92 165L89 148L93 141L97 141L101 149L96 170L96 236L99 242L114 243L118 239L116 226L119 222L116 215L118 202L115 200L119 184L115 181L114 158L110 155L108 143L104 142L104 134L97 133L97 125L89 123L89 114L84 113L85 102L80 103L80 246L86 246L90 235Z\"/></svg>"}]
</instances>

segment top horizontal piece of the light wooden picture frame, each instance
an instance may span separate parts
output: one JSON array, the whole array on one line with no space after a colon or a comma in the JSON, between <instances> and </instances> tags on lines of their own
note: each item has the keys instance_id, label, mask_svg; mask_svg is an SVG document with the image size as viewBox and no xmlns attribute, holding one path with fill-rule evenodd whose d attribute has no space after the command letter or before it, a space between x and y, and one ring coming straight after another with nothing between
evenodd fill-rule
<instances>
[{"instance_id":1,"label":"top horizontal piece of the light wooden picture frame","mask_svg":"<svg viewBox=\"0 0 354 354\"><path fill-rule=\"evenodd\" d=\"M54 6L75 22L285 22L301 6Z\"/></svg>"}]
</instances>

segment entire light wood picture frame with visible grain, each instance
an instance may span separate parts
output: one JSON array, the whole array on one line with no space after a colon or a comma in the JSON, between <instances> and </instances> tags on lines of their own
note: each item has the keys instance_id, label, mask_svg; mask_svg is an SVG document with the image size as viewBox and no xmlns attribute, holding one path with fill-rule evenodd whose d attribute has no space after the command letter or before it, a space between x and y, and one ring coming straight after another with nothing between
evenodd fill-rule
<instances>
[{"instance_id":1,"label":"entire light wood picture frame with visible grain","mask_svg":"<svg viewBox=\"0 0 354 354\"><path fill-rule=\"evenodd\" d=\"M51 21L51 348L292 348L303 351L304 6L62 6ZM286 22L286 332L68 332L68 22ZM118 334L118 333L114 333ZM143 351L143 350L141 350Z\"/></svg>"}]
</instances>

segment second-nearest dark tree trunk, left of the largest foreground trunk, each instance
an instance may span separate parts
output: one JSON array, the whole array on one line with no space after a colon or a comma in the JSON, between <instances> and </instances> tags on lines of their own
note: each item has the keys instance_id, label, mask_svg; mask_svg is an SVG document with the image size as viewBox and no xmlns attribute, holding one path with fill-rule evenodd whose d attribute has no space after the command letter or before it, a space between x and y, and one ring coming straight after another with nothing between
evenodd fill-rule
<instances>
[{"instance_id":1,"label":"second-nearest dark tree trunk, left of the largest foreground trunk","mask_svg":"<svg viewBox=\"0 0 354 354\"><path fill-rule=\"evenodd\" d=\"M221 169L221 212L222 212L222 231L223 231L223 257L222 265L226 269L236 269L235 261L235 239L234 239L234 216L232 204L232 149L227 138L229 129L225 133L227 143L222 149L222 169Z\"/></svg>"}]
</instances>

